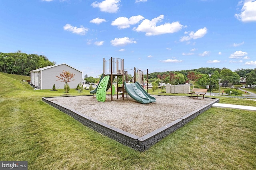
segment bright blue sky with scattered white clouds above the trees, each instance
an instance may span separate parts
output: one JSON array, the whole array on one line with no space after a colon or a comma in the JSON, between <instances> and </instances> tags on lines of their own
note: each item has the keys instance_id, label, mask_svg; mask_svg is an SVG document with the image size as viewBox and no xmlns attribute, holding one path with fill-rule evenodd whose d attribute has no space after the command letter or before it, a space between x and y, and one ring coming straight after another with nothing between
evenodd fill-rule
<instances>
[{"instance_id":1,"label":"bright blue sky with scattered white clouds above the trees","mask_svg":"<svg viewBox=\"0 0 256 170\"><path fill-rule=\"evenodd\" d=\"M103 58L149 72L256 68L256 0L1 0L0 52L99 77Z\"/></svg>"}]
</instances>

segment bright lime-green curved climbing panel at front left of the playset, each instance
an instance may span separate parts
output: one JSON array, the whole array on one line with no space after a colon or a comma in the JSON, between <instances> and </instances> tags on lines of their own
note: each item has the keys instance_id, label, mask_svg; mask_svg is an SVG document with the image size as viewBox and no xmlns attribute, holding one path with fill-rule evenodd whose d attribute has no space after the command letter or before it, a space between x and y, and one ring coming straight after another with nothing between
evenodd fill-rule
<instances>
[{"instance_id":1,"label":"bright lime-green curved climbing panel at front left of the playset","mask_svg":"<svg viewBox=\"0 0 256 170\"><path fill-rule=\"evenodd\" d=\"M107 91L108 84L109 84L109 77L110 76L103 77L97 87L96 99L99 102L105 102L105 100L106 100L106 91Z\"/></svg>"}]
</instances>

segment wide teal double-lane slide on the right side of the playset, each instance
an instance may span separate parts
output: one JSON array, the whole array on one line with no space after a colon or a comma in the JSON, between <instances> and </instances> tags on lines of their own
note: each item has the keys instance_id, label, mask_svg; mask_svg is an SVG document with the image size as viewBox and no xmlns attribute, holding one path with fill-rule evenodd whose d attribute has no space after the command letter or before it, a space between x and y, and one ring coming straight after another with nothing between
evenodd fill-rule
<instances>
[{"instance_id":1,"label":"wide teal double-lane slide on the right side of the playset","mask_svg":"<svg viewBox=\"0 0 256 170\"><path fill-rule=\"evenodd\" d=\"M140 102L142 104L148 104L152 102L156 102L156 98L150 96L142 86L138 82L135 83L126 83L124 82L124 87L126 92L136 100L137 102Z\"/></svg>"}]
</instances>

